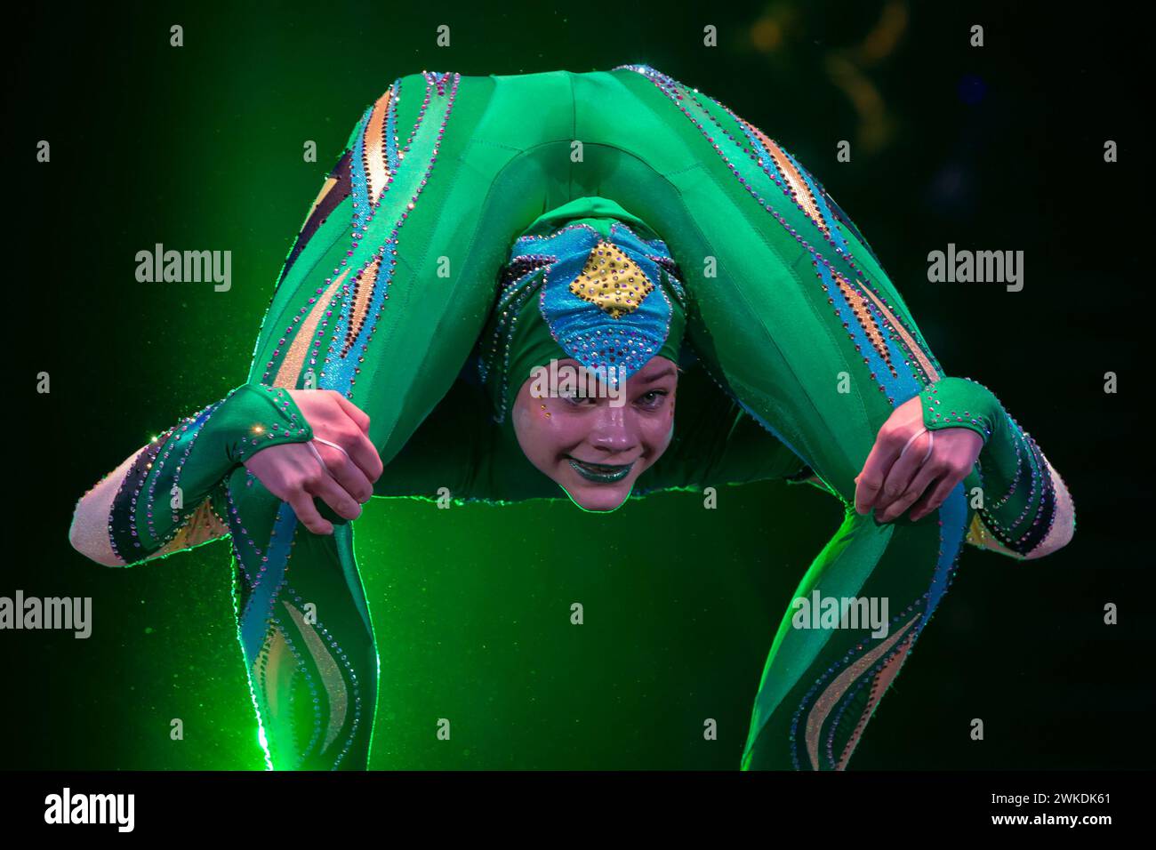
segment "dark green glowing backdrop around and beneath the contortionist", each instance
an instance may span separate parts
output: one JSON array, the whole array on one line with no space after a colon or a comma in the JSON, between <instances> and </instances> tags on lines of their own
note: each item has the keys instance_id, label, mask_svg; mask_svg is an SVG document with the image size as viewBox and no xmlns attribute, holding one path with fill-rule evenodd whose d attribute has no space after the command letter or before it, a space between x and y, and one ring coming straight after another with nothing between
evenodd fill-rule
<instances>
[{"instance_id":1,"label":"dark green glowing backdrop around and beneath the contortionist","mask_svg":"<svg viewBox=\"0 0 1156 850\"><path fill-rule=\"evenodd\" d=\"M309 205L395 77L623 62L701 88L810 168L944 368L991 386L1075 497L1075 540L1051 557L968 548L852 769L1151 762L1150 93L1131 68L1147 50L1140 27L1121 13L876 0L7 14L15 471L0 594L91 597L95 624L87 641L0 634L0 767L261 767L227 544L103 568L68 545L76 498L244 380ZM894 46L868 39L901 20ZM172 23L184 47L169 46ZM442 23L449 49L435 45ZM702 44L706 23L717 49ZM972 23L983 49L968 45ZM779 38L757 47L753 31ZM854 52L865 39L883 45L870 64ZM882 124L838 84L847 57ZM873 127L888 132L873 142ZM35 162L42 139L47 165ZM835 161L842 139L851 163ZM1105 139L1118 164L1103 162ZM317 163L302 162L305 140ZM138 283L135 253L157 242L232 251L231 291ZM926 254L948 242L1023 250L1024 290L928 283ZM34 389L42 370L47 396ZM1109 370L1119 394L1102 391ZM714 511L674 493L608 517L569 502L375 502L357 524L381 638L372 766L736 768L775 628L839 516L817 490L768 482L724 490ZM1109 601L1116 627L1102 623ZM173 717L184 741L169 740ZM439 717L449 742L435 739ZM718 741L703 740L706 717Z\"/></svg>"}]
</instances>

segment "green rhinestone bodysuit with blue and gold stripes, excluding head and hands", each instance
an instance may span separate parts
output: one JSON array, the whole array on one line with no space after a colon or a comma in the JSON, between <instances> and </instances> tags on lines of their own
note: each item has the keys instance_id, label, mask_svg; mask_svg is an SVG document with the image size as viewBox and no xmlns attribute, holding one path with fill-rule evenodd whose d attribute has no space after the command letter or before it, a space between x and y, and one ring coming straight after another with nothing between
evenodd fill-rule
<instances>
[{"instance_id":1,"label":"green rhinestone bodysuit with blue and gold stripes, excluding head and hands","mask_svg":"<svg viewBox=\"0 0 1156 850\"><path fill-rule=\"evenodd\" d=\"M684 288L674 442L633 495L809 479L846 513L796 597L890 600L882 637L794 629L788 612L743 768L844 768L963 544L1037 557L1069 535L1070 500L1036 443L985 387L944 375L851 220L757 127L644 65L403 76L364 111L306 216L244 387L154 441L109 518L126 563L231 537L269 768L364 768L388 687L351 525L310 533L242 465L264 445L312 437L279 391L336 390L370 415L386 465L377 495L565 497L510 439L502 367L487 356L502 288L560 263L535 268L511 245L583 217L586 202L658 237L662 291ZM510 391L526 377L509 376ZM970 428L984 448L936 511L880 524L855 512L854 478L916 396L929 430Z\"/></svg>"}]
</instances>

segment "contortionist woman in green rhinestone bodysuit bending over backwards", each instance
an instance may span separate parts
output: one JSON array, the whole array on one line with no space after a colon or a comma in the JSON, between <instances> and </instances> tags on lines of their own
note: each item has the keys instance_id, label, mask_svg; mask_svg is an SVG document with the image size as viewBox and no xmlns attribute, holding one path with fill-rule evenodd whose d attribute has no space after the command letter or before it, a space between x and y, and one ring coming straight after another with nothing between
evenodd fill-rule
<instances>
[{"instance_id":1,"label":"contortionist woman in green rhinestone bodysuit bending over backwards","mask_svg":"<svg viewBox=\"0 0 1156 850\"><path fill-rule=\"evenodd\" d=\"M378 649L349 520L372 495L612 511L768 478L845 507L796 597L885 598L889 622L788 609L742 768L846 767L963 545L1035 559L1075 527L1039 446L944 372L757 127L645 65L423 72L349 136L247 380L97 482L71 539L133 566L230 538L267 766L363 769Z\"/></svg>"}]
</instances>

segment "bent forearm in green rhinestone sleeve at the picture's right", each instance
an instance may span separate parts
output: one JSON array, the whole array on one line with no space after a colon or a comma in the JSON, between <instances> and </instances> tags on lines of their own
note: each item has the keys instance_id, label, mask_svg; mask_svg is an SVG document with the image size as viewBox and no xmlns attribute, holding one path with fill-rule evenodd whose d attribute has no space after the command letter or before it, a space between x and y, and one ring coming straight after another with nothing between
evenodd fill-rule
<instances>
[{"instance_id":1,"label":"bent forearm in green rhinestone sleeve at the picture's right","mask_svg":"<svg viewBox=\"0 0 1156 850\"><path fill-rule=\"evenodd\" d=\"M1031 435L994 393L966 378L942 378L920 393L928 430L970 428L984 438L968 497L976 516L968 542L1016 559L1067 545L1075 509L1067 486Z\"/></svg>"}]
</instances>

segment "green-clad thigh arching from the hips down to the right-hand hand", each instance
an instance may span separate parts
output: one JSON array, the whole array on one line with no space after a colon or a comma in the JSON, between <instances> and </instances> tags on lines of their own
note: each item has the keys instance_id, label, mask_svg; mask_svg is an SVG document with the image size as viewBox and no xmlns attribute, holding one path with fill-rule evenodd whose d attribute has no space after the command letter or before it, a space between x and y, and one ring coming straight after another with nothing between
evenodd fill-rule
<instances>
[{"instance_id":1,"label":"green-clad thigh arching from the hips down to the right-hand hand","mask_svg":"<svg viewBox=\"0 0 1156 850\"><path fill-rule=\"evenodd\" d=\"M939 377L858 230L781 147L703 93L645 66L576 90L577 132L595 141L576 182L664 238L704 364L850 502L879 428ZM624 117L598 121L606 111Z\"/></svg>"}]
</instances>

